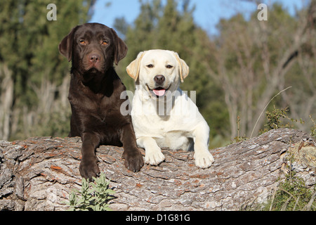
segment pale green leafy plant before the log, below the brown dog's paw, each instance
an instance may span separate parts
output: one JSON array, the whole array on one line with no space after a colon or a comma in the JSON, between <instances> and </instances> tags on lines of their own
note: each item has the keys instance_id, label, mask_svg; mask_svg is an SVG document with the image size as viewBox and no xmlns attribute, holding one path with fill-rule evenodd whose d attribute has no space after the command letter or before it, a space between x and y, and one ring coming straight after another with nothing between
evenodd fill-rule
<instances>
[{"instance_id":1,"label":"pale green leafy plant before the log, below the brown dog's paw","mask_svg":"<svg viewBox=\"0 0 316 225\"><path fill-rule=\"evenodd\" d=\"M110 211L107 202L114 197L115 193L109 189L110 181L105 179L105 174L94 178L96 184L90 183L86 179L82 179L81 191L74 190L69 195L70 211ZM78 198L79 195L80 197Z\"/></svg>"}]
</instances>

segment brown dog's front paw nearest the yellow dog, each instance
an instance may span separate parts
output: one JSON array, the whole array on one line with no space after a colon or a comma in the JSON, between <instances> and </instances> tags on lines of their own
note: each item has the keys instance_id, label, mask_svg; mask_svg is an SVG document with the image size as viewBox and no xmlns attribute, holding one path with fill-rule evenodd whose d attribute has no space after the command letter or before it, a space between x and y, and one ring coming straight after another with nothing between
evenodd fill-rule
<instances>
[{"instance_id":1,"label":"brown dog's front paw nearest the yellow dog","mask_svg":"<svg viewBox=\"0 0 316 225\"><path fill-rule=\"evenodd\" d=\"M138 172L144 165L143 155L140 153L140 150L136 148L135 150L124 150L122 158L125 159L124 165L126 169L129 169L133 172Z\"/></svg>"}]
</instances>

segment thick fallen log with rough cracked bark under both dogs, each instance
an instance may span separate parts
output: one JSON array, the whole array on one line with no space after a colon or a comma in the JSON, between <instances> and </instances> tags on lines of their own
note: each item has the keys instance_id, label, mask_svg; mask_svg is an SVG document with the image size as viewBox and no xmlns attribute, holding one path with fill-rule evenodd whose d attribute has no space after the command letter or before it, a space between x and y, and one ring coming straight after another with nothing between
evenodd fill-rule
<instances>
[{"instance_id":1,"label":"thick fallen log with rough cracked bark under both dogs","mask_svg":"<svg viewBox=\"0 0 316 225\"><path fill-rule=\"evenodd\" d=\"M81 188L80 148L79 138L0 141L0 210L67 210L63 201ZM114 146L97 150L100 171L116 191L113 210L239 210L263 203L287 171L290 154L306 184L316 182L315 141L294 129L213 149L209 169L195 167L192 152L163 150L166 162L133 173L122 152Z\"/></svg>"}]
</instances>

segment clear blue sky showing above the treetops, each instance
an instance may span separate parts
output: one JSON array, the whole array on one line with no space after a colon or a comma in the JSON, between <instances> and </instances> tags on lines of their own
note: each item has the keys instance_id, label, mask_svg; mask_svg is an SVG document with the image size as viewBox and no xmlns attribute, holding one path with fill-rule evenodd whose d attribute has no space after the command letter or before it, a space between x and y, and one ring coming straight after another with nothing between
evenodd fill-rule
<instances>
[{"instance_id":1,"label":"clear blue sky showing above the treetops","mask_svg":"<svg viewBox=\"0 0 316 225\"><path fill-rule=\"evenodd\" d=\"M166 2L166 0L163 1ZM111 4L107 6L109 2ZM216 34L216 24L220 18L230 18L237 12L247 16L251 12L258 11L256 4L251 0L191 0L190 2L196 6L195 22L207 30L209 34ZM265 0L261 2L267 4L268 10L273 3L279 2L292 15L295 14L296 8L300 9L308 4L308 0ZM115 18L124 16L128 23L133 23L139 13L139 0L97 0L90 22L103 23L113 27Z\"/></svg>"}]
</instances>

